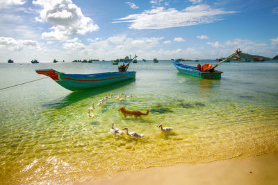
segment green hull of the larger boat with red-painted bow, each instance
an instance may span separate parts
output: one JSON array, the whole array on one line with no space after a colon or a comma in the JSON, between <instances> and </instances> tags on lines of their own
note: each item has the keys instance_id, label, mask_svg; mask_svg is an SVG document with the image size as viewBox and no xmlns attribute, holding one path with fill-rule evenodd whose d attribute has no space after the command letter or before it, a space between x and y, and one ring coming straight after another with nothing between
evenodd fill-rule
<instances>
[{"instance_id":1,"label":"green hull of the larger boat with red-painted bow","mask_svg":"<svg viewBox=\"0 0 278 185\"><path fill-rule=\"evenodd\" d=\"M65 74L55 71L54 69L38 69L38 74L49 76L65 89L77 91L81 89L89 89L110 85L115 82L136 78L136 72L108 72L93 74Z\"/></svg>"}]
</instances>

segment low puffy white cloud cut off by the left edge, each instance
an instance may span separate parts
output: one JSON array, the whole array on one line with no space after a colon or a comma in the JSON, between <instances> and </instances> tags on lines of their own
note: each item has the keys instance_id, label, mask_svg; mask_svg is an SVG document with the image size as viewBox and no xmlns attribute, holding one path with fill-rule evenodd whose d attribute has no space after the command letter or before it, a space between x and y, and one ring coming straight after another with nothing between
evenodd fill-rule
<instances>
[{"instance_id":1,"label":"low puffy white cloud cut off by the left edge","mask_svg":"<svg viewBox=\"0 0 278 185\"><path fill-rule=\"evenodd\" d=\"M40 44L35 40L14 39L12 37L0 37L1 48L7 48L10 51L22 51L24 49L40 49Z\"/></svg>"}]
</instances>

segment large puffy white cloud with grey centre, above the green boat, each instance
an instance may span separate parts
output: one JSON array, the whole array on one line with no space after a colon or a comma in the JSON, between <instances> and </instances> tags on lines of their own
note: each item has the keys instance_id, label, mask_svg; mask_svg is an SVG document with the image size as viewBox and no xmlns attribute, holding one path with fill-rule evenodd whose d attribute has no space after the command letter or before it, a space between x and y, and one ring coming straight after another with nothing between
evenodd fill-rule
<instances>
[{"instance_id":1,"label":"large puffy white cloud with grey centre, above the green boat","mask_svg":"<svg viewBox=\"0 0 278 185\"><path fill-rule=\"evenodd\" d=\"M85 17L81 8L71 0L36 0L33 4L43 7L37 21L54 25L51 32L42 33L43 39L65 40L70 35L85 35L99 30L99 26L90 17Z\"/></svg>"}]
</instances>

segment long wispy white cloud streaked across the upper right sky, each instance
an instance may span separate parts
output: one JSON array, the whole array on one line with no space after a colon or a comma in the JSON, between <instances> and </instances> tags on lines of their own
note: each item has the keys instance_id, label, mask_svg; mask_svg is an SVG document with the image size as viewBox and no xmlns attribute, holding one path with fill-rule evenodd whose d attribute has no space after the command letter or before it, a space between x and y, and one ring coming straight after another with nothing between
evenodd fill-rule
<instances>
[{"instance_id":1,"label":"long wispy white cloud streaked across the upper right sky","mask_svg":"<svg viewBox=\"0 0 278 185\"><path fill-rule=\"evenodd\" d=\"M218 15L235 13L234 11L223 11L213 9L211 6L200 4L189 6L184 10L174 8L165 9L163 7L145 10L140 14L128 15L115 19L113 23L129 22L129 28L142 29L163 29L181 26L193 26L197 24L208 24L221 20Z\"/></svg>"}]
</instances>

